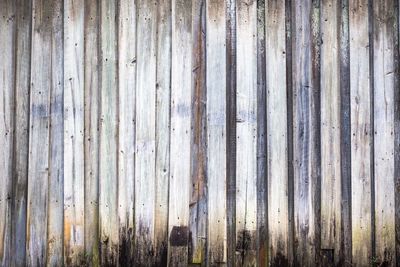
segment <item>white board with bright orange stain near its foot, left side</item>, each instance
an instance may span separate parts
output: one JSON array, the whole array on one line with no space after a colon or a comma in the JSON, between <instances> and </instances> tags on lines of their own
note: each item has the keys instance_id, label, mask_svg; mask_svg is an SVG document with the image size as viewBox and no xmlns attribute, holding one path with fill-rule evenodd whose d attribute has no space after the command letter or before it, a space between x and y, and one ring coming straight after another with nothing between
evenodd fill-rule
<instances>
[{"instance_id":1,"label":"white board with bright orange stain near its foot, left side","mask_svg":"<svg viewBox=\"0 0 400 267\"><path fill-rule=\"evenodd\" d=\"M84 259L84 2L64 1L64 264Z\"/></svg>"}]
</instances>

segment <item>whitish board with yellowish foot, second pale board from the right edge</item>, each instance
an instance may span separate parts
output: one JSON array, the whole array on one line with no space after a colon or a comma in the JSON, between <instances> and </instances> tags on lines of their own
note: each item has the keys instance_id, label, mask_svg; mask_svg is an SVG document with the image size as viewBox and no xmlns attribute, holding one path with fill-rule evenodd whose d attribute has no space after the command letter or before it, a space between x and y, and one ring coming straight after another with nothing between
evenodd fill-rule
<instances>
[{"instance_id":1,"label":"whitish board with yellowish foot, second pale board from the right edge","mask_svg":"<svg viewBox=\"0 0 400 267\"><path fill-rule=\"evenodd\" d=\"M349 2L352 254L355 266L372 257L371 105L368 1Z\"/></svg>"}]
</instances>

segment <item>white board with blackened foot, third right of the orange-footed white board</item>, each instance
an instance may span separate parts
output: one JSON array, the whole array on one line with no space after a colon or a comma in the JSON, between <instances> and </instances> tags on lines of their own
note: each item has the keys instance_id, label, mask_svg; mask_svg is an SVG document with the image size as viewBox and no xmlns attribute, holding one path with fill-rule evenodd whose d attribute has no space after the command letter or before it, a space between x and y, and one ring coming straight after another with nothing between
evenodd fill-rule
<instances>
[{"instance_id":1,"label":"white board with blackened foot, third right of the orange-footed white board","mask_svg":"<svg viewBox=\"0 0 400 267\"><path fill-rule=\"evenodd\" d=\"M118 8L118 262L124 266L134 257L136 3L123 0Z\"/></svg>"}]
</instances>

